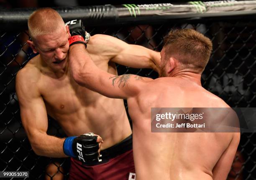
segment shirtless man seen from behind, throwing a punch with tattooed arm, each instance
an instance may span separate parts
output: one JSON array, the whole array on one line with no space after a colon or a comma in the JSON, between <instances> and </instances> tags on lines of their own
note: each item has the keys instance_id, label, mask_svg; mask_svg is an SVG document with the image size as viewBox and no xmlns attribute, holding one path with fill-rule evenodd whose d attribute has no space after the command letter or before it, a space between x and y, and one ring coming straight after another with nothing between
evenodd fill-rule
<instances>
[{"instance_id":1,"label":"shirtless man seen from behind, throwing a punch with tattooed arm","mask_svg":"<svg viewBox=\"0 0 256 180\"><path fill-rule=\"evenodd\" d=\"M151 107L229 107L201 86L212 42L191 29L171 31L156 80L113 76L95 66L82 44L69 47L74 80L112 98L127 99L133 122L136 180L225 180L240 133L151 133Z\"/></svg>"}]
</instances>

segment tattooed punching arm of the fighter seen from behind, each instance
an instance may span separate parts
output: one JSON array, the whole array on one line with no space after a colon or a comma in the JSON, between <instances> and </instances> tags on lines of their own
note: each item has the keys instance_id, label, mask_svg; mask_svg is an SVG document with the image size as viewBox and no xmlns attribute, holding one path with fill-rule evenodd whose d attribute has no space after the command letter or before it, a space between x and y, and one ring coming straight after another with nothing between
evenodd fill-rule
<instances>
[{"instance_id":1,"label":"tattooed punching arm of the fighter seen from behind","mask_svg":"<svg viewBox=\"0 0 256 180\"><path fill-rule=\"evenodd\" d=\"M69 47L69 65L74 80L90 90L112 98L127 99L137 95L150 78L138 75L115 76L100 70L83 44Z\"/></svg>"}]
</instances>

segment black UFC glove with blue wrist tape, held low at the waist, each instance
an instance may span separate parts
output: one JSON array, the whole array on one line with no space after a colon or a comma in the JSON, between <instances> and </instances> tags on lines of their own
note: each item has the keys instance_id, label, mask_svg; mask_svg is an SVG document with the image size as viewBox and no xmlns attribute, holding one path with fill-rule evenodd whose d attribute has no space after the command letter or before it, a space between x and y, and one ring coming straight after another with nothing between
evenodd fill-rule
<instances>
[{"instance_id":1,"label":"black UFC glove with blue wrist tape, held low at the waist","mask_svg":"<svg viewBox=\"0 0 256 180\"><path fill-rule=\"evenodd\" d=\"M72 136L65 139L63 143L64 153L73 158L78 158L82 163L97 160L100 149L97 136L86 133L80 136Z\"/></svg>"}]
</instances>

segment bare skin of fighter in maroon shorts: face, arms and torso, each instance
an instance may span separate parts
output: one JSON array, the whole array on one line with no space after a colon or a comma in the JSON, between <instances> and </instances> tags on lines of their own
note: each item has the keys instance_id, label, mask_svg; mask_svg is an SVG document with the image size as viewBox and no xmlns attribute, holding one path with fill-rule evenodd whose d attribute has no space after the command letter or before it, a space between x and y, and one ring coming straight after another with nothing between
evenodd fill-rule
<instances>
[{"instance_id":1,"label":"bare skin of fighter in maroon shorts: face, arms and torso","mask_svg":"<svg viewBox=\"0 0 256 180\"><path fill-rule=\"evenodd\" d=\"M31 59L16 77L23 127L35 153L49 157L66 155L62 149L64 139L46 134L47 114L59 122L67 136L88 132L100 135L104 140L102 150L131 135L123 100L81 87L72 78L67 56L70 34L66 30L37 37L40 48L33 50L40 55ZM87 51L100 70L113 75L117 75L114 62L158 70L156 64L160 61L159 52L128 45L108 35L92 36ZM53 53L52 59L49 53Z\"/></svg>"}]
</instances>

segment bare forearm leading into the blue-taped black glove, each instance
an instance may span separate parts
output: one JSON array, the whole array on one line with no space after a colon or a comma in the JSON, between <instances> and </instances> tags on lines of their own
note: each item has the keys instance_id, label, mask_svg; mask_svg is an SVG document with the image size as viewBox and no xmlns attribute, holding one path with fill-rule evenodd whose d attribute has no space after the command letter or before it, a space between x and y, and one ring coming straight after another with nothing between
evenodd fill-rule
<instances>
[{"instance_id":1,"label":"bare forearm leading into the blue-taped black glove","mask_svg":"<svg viewBox=\"0 0 256 180\"><path fill-rule=\"evenodd\" d=\"M33 151L37 155L52 158L65 158L67 155L63 151L64 138L57 138L44 133L37 133L31 138L30 143Z\"/></svg>"}]
</instances>

